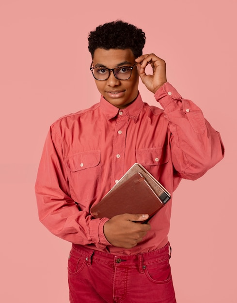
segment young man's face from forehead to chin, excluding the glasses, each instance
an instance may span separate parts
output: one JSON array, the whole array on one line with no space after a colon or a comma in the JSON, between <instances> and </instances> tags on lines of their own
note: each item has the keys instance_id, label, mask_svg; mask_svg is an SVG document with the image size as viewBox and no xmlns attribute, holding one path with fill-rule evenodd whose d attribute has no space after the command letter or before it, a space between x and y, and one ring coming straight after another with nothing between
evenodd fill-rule
<instances>
[{"instance_id":1,"label":"young man's face from forehead to chin, excluding the glasses","mask_svg":"<svg viewBox=\"0 0 237 303\"><path fill-rule=\"evenodd\" d=\"M93 57L93 67L115 68L121 66L133 66L135 57L131 49L103 49L96 48ZM125 108L138 95L139 76L136 65L128 80L119 80L111 72L105 81L95 79L95 84L102 96L112 105L118 108Z\"/></svg>"}]
</instances>

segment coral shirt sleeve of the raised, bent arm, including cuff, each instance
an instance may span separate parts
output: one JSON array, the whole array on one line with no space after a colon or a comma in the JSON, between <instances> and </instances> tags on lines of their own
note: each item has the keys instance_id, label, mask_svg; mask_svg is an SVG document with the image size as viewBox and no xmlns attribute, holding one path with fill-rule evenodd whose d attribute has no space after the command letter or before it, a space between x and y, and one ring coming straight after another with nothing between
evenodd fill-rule
<instances>
[{"instance_id":1,"label":"coral shirt sleeve of the raised, bent arm, including cuff","mask_svg":"<svg viewBox=\"0 0 237 303\"><path fill-rule=\"evenodd\" d=\"M183 99L166 82L155 93L169 120L170 144L174 170L184 179L195 180L216 165L224 155L219 132L205 120L201 109Z\"/></svg>"}]
</instances>

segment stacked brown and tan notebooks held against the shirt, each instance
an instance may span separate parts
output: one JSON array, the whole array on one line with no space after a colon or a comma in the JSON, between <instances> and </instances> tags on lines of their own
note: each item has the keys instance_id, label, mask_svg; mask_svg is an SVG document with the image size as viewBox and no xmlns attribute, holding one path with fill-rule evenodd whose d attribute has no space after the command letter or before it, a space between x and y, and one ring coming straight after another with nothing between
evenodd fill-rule
<instances>
[{"instance_id":1,"label":"stacked brown and tan notebooks held against the shirt","mask_svg":"<svg viewBox=\"0 0 237 303\"><path fill-rule=\"evenodd\" d=\"M144 167L135 163L91 208L91 214L95 218L112 218L123 213L148 213L150 219L169 199L168 191Z\"/></svg>"}]
</instances>

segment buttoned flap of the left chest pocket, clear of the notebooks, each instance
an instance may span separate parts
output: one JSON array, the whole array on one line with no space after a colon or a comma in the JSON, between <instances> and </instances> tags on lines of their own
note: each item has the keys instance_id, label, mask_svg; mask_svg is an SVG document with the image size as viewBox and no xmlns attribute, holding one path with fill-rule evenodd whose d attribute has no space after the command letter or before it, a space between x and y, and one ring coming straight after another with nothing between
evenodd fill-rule
<instances>
[{"instance_id":1,"label":"buttoned flap of the left chest pocket, clear of the notebooks","mask_svg":"<svg viewBox=\"0 0 237 303\"><path fill-rule=\"evenodd\" d=\"M100 151L78 152L76 154L66 156L66 166L72 172L95 167L100 162Z\"/></svg>"}]
</instances>

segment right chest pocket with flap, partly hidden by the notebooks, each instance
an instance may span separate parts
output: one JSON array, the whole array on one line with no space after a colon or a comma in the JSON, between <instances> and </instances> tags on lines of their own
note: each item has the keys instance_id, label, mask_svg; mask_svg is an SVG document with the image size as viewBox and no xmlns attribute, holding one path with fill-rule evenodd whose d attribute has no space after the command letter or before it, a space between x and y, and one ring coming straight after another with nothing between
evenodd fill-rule
<instances>
[{"instance_id":1,"label":"right chest pocket with flap, partly hidden by the notebooks","mask_svg":"<svg viewBox=\"0 0 237 303\"><path fill-rule=\"evenodd\" d=\"M162 185L166 186L170 180L169 168L169 149L163 148L145 148L136 150L136 160L145 167ZM168 186L168 184L167 184Z\"/></svg>"}]
</instances>

